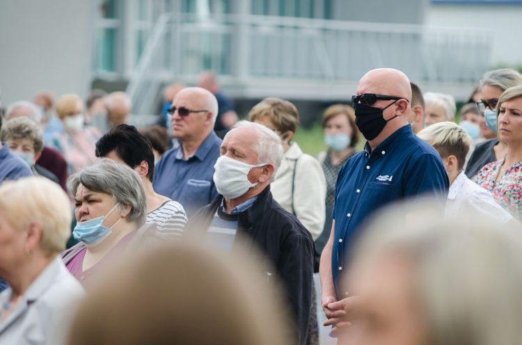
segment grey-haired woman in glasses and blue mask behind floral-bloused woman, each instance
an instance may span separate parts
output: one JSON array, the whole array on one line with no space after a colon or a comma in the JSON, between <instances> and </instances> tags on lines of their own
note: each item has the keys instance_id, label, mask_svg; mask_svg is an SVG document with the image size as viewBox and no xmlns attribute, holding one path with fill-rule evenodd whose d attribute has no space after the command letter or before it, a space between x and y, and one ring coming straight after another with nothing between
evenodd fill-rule
<instances>
[{"instance_id":1,"label":"grey-haired woman in glasses and blue mask behind floral-bloused woman","mask_svg":"<svg viewBox=\"0 0 522 345\"><path fill-rule=\"evenodd\" d=\"M482 75L479 82L480 102L477 102L483 116L480 117L480 128L487 127L497 133L496 106L502 93L513 86L522 85L522 75L515 70L502 68ZM483 166L502 159L507 152L507 145L497 136L493 139L477 144L466 165L466 176L475 179L477 172Z\"/></svg>"}]
</instances>

